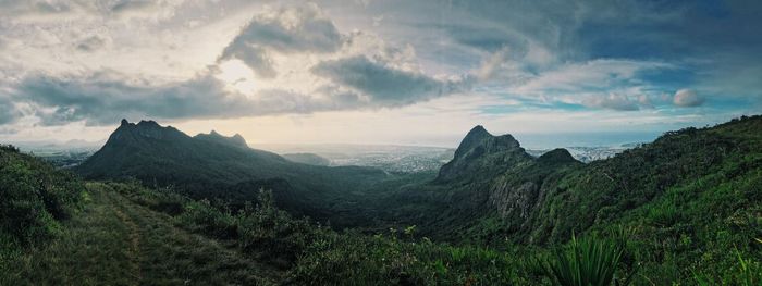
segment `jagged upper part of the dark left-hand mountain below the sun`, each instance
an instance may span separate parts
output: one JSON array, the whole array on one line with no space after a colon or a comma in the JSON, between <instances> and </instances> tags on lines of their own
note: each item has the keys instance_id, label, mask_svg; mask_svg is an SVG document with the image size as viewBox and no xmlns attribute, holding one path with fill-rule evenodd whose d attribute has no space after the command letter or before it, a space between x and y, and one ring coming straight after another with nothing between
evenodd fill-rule
<instances>
[{"instance_id":1,"label":"jagged upper part of the dark left-hand mountain below the sun","mask_svg":"<svg viewBox=\"0 0 762 286\"><path fill-rule=\"evenodd\" d=\"M153 121L134 124L123 120L103 147L76 167L76 171L88 178L133 176L160 183L169 183L172 176L204 177L210 172L218 172L209 178L239 181L236 174L214 171L213 167L246 162L249 166L259 169L259 172L248 174L249 178L267 178L288 163L275 153L242 147L233 138L217 133L194 138ZM167 172L174 175L167 177Z\"/></svg>"}]
</instances>

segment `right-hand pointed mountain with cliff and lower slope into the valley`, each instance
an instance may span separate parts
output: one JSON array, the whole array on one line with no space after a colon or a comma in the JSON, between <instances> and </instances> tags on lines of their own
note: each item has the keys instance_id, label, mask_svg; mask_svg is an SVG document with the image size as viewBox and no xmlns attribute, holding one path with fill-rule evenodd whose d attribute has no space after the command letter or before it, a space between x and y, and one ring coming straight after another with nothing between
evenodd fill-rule
<instances>
[{"instance_id":1,"label":"right-hand pointed mountain with cliff and lower slope into the valley","mask_svg":"<svg viewBox=\"0 0 762 286\"><path fill-rule=\"evenodd\" d=\"M542 186L553 184L558 174L581 166L565 149L534 158L512 135L493 136L476 126L434 181L406 186L385 208L404 210L389 215L421 225L422 234L438 239L504 238L506 233L515 235L536 211ZM423 201L426 207L393 207L403 201ZM487 220L500 222L501 233L484 232L482 223ZM484 237L486 233L489 237Z\"/></svg>"}]
</instances>

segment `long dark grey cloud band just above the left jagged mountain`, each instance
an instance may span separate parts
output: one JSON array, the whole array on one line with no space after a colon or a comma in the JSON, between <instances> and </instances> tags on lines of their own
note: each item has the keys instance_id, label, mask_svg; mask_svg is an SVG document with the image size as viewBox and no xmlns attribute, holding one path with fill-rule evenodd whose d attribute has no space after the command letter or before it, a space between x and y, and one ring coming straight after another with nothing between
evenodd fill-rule
<instances>
[{"instance_id":1,"label":"long dark grey cloud band just above the left jagged mountain","mask_svg":"<svg viewBox=\"0 0 762 286\"><path fill-rule=\"evenodd\" d=\"M127 84L102 74L69 79L30 76L17 87L15 100L36 107L34 115L42 125L78 121L113 124L124 116L224 117L255 109L245 97L226 95L222 89L222 84L209 76L167 86Z\"/></svg>"}]
</instances>

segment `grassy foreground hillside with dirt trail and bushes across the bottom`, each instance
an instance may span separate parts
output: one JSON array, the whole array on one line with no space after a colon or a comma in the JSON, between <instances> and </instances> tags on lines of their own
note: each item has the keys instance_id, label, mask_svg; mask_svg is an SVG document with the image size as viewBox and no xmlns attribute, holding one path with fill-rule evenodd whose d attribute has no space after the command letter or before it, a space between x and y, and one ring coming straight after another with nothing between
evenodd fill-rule
<instances>
[{"instance_id":1,"label":"grassy foreground hillside with dirt trail and bushes across the bottom","mask_svg":"<svg viewBox=\"0 0 762 286\"><path fill-rule=\"evenodd\" d=\"M116 213L95 216L113 221L106 223L108 227L103 231L124 233L119 236L121 240L97 237L91 243L112 241L98 246L106 249L113 248L114 244L139 249L125 252L125 257L111 258L109 263L138 261L133 263L139 268L132 264L132 269L139 269L144 282L177 282L180 276L190 282L249 278L257 283L288 285L554 285L560 283L558 277L545 272L542 265L558 265L563 272L558 263L569 259L568 253L574 251L579 254L572 258L573 261L599 265L611 273L610 279L622 283L629 277L635 285L693 285L704 281L758 285L762 278L759 275L762 264L753 252L714 249L712 252L722 257L704 261L705 258L696 258L665 245L644 245L655 240L646 239L642 227L626 224L606 224L569 244L548 247L505 244L495 249L417 238L415 226L374 235L335 232L276 209L268 191L260 192L263 197L258 204L230 212L225 206L136 184L98 183L90 184L89 188L95 210ZM94 217L85 217L88 216ZM73 228L73 233L83 231L89 232ZM138 241L137 247L134 241ZM593 249L600 253L589 252ZM692 251L703 252L700 247ZM62 253L46 256L63 257ZM616 260L597 260L613 254ZM669 259L653 260L655 256ZM198 261L205 263L198 264ZM125 265L120 269L128 273L131 264ZM61 268L65 269L52 266ZM114 272L98 266L91 271L91 276ZM111 278L106 276L106 279Z\"/></svg>"}]
</instances>

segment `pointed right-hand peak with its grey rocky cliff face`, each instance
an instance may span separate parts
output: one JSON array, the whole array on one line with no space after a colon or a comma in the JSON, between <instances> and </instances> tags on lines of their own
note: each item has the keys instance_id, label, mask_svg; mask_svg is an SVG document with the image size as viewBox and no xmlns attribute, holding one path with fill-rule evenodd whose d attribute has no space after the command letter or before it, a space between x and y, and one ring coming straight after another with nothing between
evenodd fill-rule
<instances>
[{"instance_id":1,"label":"pointed right-hand peak with its grey rocky cliff face","mask_svg":"<svg viewBox=\"0 0 762 286\"><path fill-rule=\"evenodd\" d=\"M513 136L493 136L476 126L453 160L440 169L434 184L453 191L450 204L462 208L453 211L457 215L495 215L505 234L524 234L532 228L538 210L551 192L549 186L580 165L565 149L533 158Z\"/></svg>"}]
</instances>

